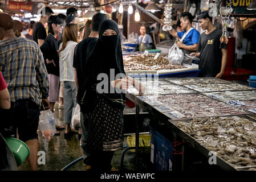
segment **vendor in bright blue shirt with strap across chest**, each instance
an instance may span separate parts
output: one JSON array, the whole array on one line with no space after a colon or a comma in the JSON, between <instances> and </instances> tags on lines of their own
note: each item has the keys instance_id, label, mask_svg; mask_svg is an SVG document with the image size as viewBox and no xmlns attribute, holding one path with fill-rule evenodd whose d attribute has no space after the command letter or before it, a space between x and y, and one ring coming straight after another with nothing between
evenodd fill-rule
<instances>
[{"instance_id":1,"label":"vendor in bright blue shirt with strap across chest","mask_svg":"<svg viewBox=\"0 0 256 182\"><path fill-rule=\"evenodd\" d=\"M184 31L176 32L174 28L169 31L172 36L180 39L180 41L176 42L177 46L181 49L184 49L184 53L188 54L197 50L198 40L200 36L200 33L192 27L192 20L193 16L188 12L184 12L181 14L180 18L180 26L181 29ZM188 32L187 35L185 35L186 32ZM183 41L181 41L184 35L185 38L183 38Z\"/></svg>"}]
</instances>

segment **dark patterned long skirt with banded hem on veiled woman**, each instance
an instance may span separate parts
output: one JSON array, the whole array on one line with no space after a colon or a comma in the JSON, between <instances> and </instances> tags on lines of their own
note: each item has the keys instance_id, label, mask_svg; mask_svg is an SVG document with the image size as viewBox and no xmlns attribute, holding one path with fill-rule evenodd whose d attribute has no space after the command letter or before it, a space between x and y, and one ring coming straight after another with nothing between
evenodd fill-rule
<instances>
[{"instance_id":1,"label":"dark patterned long skirt with banded hem on veiled woman","mask_svg":"<svg viewBox=\"0 0 256 182\"><path fill-rule=\"evenodd\" d=\"M98 93L93 107L88 113L91 149L116 151L123 148L123 109L111 106L108 98Z\"/></svg>"}]
</instances>

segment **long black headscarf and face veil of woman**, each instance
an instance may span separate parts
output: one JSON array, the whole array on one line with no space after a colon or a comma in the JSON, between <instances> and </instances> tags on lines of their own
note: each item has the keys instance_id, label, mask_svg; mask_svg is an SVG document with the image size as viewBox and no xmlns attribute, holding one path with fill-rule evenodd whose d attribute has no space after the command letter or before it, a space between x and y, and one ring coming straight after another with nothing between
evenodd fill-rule
<instances>
[{"instance_id":1,"label":"long black headscarf and face veil of woman","mask_svg":"<svg viewBox=\"0 0 256 182\"><path fill-rule=\"evenodd\" d=\"M107 29L115 30L117 34L103 36L103 33ZM115 93L110 93L110 82L116 79L116 75L123 73L123 76L118 77L117 79L125 77L120 34L115 21L108 19L100 23L99 39L94 51L92 51L87 59L87 68L87 71L90 74L88 74L88 83L86 87L88 88L91 84L101 82L97 80L97 76L100 73L105 73L108 75L108 83L106 83L108 84L108 93L103 93L104 96L108 97L108 100L113 106L123 107L125 103L125 94L117 93L116 90ZM114 77L111 77L110 69L115 70Z\"/></svg>"}]
</instances>

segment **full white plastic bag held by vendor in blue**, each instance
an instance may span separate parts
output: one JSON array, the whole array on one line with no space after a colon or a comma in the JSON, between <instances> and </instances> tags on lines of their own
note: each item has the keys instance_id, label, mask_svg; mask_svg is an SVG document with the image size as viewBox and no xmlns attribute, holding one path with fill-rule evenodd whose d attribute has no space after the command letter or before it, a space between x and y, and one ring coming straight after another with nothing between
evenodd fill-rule
<instances>
[{"instance_id":1,"label":"full white plastic bag held by vendor in blue","mask_svg":"<svg viewBox=\"0 0 256 182\"><path fill-rule=\"evenodd\" d=\"M169 49L168 60L169 64L181 64L183 61L184 53L177 44L173 44Z\"/></svg>"}]
</instances>

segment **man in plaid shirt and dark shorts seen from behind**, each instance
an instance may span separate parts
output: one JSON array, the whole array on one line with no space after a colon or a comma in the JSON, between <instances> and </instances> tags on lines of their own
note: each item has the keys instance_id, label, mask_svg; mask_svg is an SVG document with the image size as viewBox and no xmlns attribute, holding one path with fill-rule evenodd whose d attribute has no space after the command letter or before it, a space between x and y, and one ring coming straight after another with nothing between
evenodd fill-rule
<instances>
[{"instance_id":1,"label":"man in plaid shirt and dark shorts seen from behind","mask_svg":"<svg viewBox=\"0 0 256 182\"><path fill-rule=\"evenodd\" d=\"M11 121L14 131L18 128L19 139L30 148L28 160L31 170L37 170L39 143L36 131L40 105L46 109L50 107L43 55L34 41L14 35L14 21L10 15L0 13L0 27L4 32L0 42L0 71L14 102Z\"/></svg>"}]
</instances>

